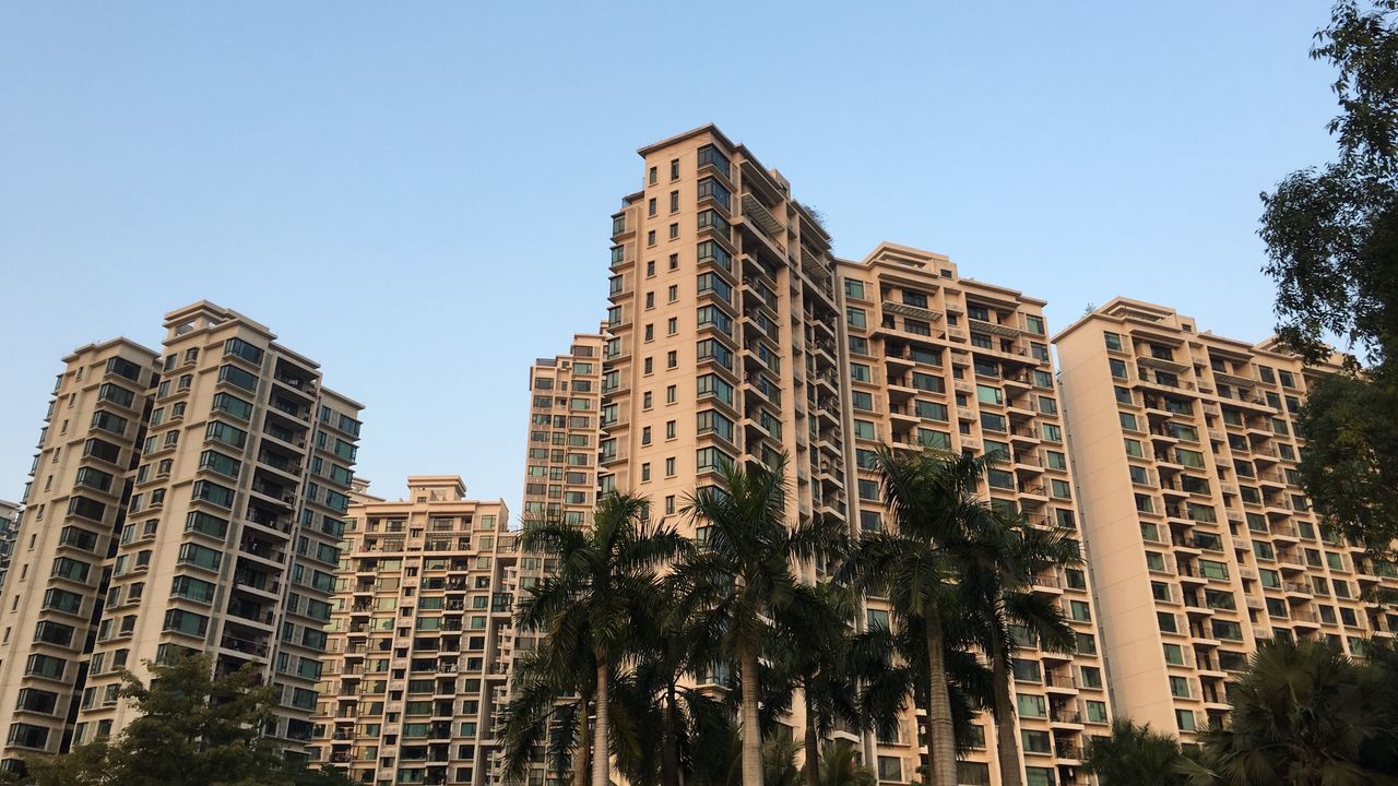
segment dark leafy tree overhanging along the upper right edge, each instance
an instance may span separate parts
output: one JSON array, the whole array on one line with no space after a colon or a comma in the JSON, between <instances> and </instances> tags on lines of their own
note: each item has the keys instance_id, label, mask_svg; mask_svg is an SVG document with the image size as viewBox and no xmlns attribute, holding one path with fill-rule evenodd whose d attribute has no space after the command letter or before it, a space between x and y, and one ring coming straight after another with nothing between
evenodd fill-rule
<instances>
[{"instance_id":1,"label":"dark leafy tree overhanging along the upper right edge","mask_svg":"<svg viewBox=\"0 0 1398 786\"><path fill-rule=\"evenodd\" d=\"M1309 385L1302 481L1355 543L1398 537L1398 0L1334 7L1311 57L1338 70L1338 157L1262 194L1264 271L1278 285L1278 334L1310 361L1338 336L1369 362Z\"/></svg>"}]
</instances>

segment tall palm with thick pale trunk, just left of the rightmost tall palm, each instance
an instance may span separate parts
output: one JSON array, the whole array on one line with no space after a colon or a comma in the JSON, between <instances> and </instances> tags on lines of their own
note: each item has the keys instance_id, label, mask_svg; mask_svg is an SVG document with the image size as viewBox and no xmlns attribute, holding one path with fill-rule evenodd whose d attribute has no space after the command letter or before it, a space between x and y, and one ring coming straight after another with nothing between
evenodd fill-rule
<instances>
[{"instance_id":1,"label":"tall palm with thick pale trunk, just left of the rightmost tall palm","mask_svg":"<svg viewBox=\"0 0 1398 786\"><path fill-rule=\"evenodd\" d=\"M946 684L941 599L970 533L993 526L977 492L991 457L881 448L872 466L893 510L892 531L864 533L840 571L865 594L889 599L906 624L921 622L927 652L927 783L955 786L956 741Z\"/></svg>"}]
</instances>

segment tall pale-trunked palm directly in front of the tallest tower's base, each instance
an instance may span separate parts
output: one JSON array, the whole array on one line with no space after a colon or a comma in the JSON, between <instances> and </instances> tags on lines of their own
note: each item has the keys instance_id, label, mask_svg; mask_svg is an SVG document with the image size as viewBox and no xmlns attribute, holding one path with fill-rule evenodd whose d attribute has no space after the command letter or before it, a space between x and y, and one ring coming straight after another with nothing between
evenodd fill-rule
<instances>
[{"instance_id":1,"label":"tall pale-trunked palm directly in front of the tallest tower's base","mask_svg":"<svg viewBox=\"0 0 1398 786\"><path fill-rule=\"evenodd\" d=\"M727 463L719 470L720 488L699 488L685 499L700 548L677 569L688 583L699 631L738 664L742 786L762 786L759 657L772 620L797 597L793 564L837 554L846 534L842 522L787 522L786 463L784 455L770 467Z\"/></svg>"}]
</instances>

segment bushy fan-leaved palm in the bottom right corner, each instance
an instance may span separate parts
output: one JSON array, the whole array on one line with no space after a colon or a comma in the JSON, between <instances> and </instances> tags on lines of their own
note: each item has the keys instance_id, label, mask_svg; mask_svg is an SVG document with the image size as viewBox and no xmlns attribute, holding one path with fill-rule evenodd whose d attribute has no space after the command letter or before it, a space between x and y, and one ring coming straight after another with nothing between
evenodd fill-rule
<instances>
[{"instance_id":1,"label":"bushy fan-leaved palm in the bottom right corner","mask_svg":"<svg viewBox=\"0 0 1398 786\"><path fill-rule=\"evenodd\" d=\"M1398 772L1366 755L1398 745L1391 692L1383 670L1355 663L1328 642L1267 642L1233 685L1227 724L1204 731L1204 761L1187 765L1191 782L1392 783Z\"/></svg>"}]
</instances>

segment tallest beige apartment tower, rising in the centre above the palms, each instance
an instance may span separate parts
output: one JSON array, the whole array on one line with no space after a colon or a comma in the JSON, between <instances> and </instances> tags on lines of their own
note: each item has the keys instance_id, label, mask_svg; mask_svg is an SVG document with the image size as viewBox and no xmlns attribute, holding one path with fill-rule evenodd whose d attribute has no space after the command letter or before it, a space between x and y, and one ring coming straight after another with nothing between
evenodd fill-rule
<instances>
[{"instance_id":1,"label":"tallest beige apartment tower, rising in the centre above the palms","mask_svg":"<svg viewBox=\"0 0 1398 786\"><path fill-rule=\"evenodd\" d=\"M829 236L790 185L705 126L642 148L612 217L600 488L686 524L723 462L790 456L790 515L847 516Z\"/></svg>"}]
</instances>

